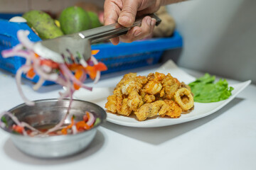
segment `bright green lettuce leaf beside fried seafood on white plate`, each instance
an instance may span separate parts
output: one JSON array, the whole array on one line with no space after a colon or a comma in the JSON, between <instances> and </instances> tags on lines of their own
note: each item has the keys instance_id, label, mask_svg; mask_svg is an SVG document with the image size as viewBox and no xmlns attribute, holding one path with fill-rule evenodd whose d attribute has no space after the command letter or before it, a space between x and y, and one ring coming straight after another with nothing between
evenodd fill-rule
<instances>
[{"instance_id":1,"label":"bright green lettuce leaf beside fried seafood on white plate","mask_svg":"<svg viewBox=\"0 0 256 170\"><path fill-rule=\"evenodd\" d=\"M223 101L231 96L233 87L228 87L228 81L220 79L214 84L215 76L210 76L206 73L203 77L191 82L188 86L191 87L194 101L199 103L210 103Z\"/></svg>"}]
</instances>

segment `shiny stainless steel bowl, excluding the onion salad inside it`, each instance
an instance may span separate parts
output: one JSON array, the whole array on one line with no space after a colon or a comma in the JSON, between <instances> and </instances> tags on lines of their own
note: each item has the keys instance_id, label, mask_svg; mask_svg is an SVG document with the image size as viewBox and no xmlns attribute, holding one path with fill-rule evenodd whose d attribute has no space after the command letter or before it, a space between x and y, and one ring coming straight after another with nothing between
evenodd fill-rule
<instances>
[{"instance_id":1,"label":"shiny stainless steel bowl, excluding the onion salad inside it","mask_svg":"<svg viewBox=\"0 0 256 170\"><path fill-rule=\"evenodd\" d=\"M26 106L26 104L23 103L12 108L9 112L14 113L18 120L26 122L33 127L53 125L60 122L63 118L68 110L70 101L68 99L60 101L58 101L58 99L46 99L35 101L35 103L35 106ZM107 117L105 110L100 106L87 101L74 100L70 108L70 116L65 120L65 123L71 122L72 115L82 120L82 115L85 114L85 111L90 111L97 118L100 118L101 121L92 129L75 135L28 137L17 135L8 128L3 129L10 133L14 145L26 154L43 158L65 157L85 149L95 137L97 127L99 127ZM8 116L6 116L6 120L9 127L14 124L13 120Z\"/></svg>"}]
</instances>

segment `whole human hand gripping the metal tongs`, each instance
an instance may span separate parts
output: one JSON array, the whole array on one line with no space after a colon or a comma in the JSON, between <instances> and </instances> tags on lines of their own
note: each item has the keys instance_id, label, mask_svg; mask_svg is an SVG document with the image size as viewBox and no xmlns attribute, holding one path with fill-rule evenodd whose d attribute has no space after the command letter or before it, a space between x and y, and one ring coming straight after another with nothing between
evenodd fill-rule
<instances>
[{"instance_id":1,"label":"whole human hand gripping the metal tongs","mask_svg":"<svg viewBox=\"0 0 256 170\"><path fill-rule=\"evenodd\" d=\"M104 25L119 23L124 27L130 27L135 21L136 16L143 16L148 13L156 12L161 6L161 0L105 0L104 4ZM150 35L156 20L149 16L142 19L142 26L131 28L126 35L112 38L113 45L119 41L132 42L146 38Z\"/></svg>"}]
</instances>

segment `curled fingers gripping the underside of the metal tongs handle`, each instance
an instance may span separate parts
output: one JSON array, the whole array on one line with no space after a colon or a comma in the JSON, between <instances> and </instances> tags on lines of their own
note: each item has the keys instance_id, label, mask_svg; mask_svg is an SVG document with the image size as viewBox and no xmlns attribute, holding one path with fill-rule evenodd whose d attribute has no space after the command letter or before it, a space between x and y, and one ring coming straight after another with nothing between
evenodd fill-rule
<instances>
[{"instance_id":1,"label":"curled fingers gripping the underside of the metal tongs handle","mask_svg":"<svg viewBox=\"0 0 256 170\"><path fill-rule=\"evenodd\" d=\"M134 27L128 31L126 35L119 36L122 42L132 42L134 40L141 40L151 35L156 25L156 20L150 16L146 16L142 19L142 26Z\"/></svg>"}]
</instances>

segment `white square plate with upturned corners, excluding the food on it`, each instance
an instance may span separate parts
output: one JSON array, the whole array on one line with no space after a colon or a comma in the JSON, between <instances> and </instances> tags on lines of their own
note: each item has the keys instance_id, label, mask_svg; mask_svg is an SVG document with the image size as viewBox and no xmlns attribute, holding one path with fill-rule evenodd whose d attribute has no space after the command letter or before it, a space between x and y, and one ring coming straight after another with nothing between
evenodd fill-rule
<instances>
[{"instance_id":1,"label":"white square plate with upturned corners, excluding the food on it","mask_svg":"<svg viewBox=\"0 0 256 170\"><path fill-rule=\"evenodd\" d=\"M172 77L176 77L179 81L184 81L186 84L195 81L195 77L187 74L183 70L179 69L174 62L169 60L163 66L161 66L157 72L164 74L170 73ZM118 125L130 126L130 127L140 127L140 128L152 128L152 127L162 127L167 125L175 125L178 123L186 123L191 120L196 120L198 118L203 118L207 115L215 113L220 108L223 108L226 104L235 98L246 86L250 84L250 80L244 81L238 84L229 84L233 86L234 90L230 98L225 101L218 101L215 103L197 103L195 102L195 107L193 111L187 114L181 114L180 118L154 118L144 121L138 121L136 118L126 117L122 115L116 115L112 113L107 113L107 121L115 123ZM116 82L117 84L118 82ZM97 105L105 108L105 103L107 103L107 96L112 95L113 88L94 88L92 91L87 91L86 89L80 89L75 91L74 98L91 101Z\"/></svg>"}]
</instances>

